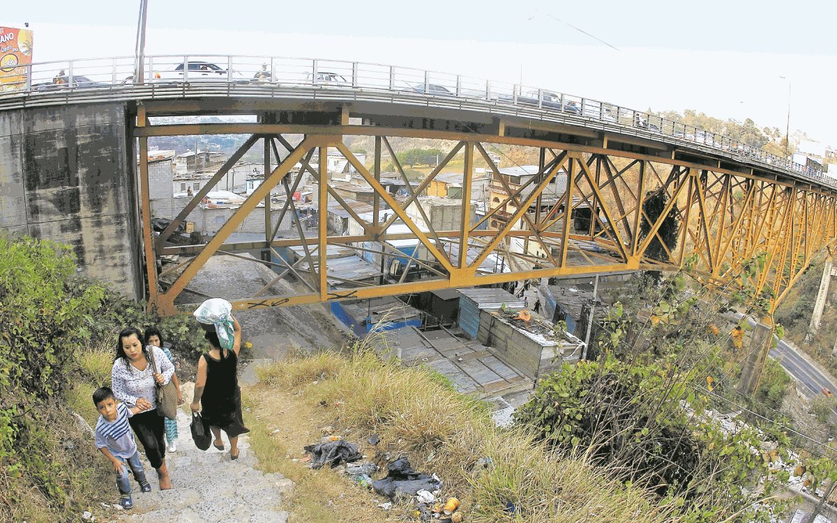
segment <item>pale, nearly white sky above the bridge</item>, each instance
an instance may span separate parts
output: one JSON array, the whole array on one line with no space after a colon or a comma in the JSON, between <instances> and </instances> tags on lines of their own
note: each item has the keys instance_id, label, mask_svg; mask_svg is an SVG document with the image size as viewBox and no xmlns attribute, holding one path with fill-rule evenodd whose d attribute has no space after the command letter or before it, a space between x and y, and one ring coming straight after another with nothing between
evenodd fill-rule
<instances>
[{"instance_id":1,"label":"pale, nearly white sky above the bridge","mask_svg":"<svg viewBox=\"0 0 837 523\"><path fill-rule=\"evenodd\" d=\"M138 0L18 3L36 62L132 56ZM837 3L149 0L146 54L333 58L696 109L837 147ZM784 77L784 78L783 78Z\"/></svg>"}]
</instances>

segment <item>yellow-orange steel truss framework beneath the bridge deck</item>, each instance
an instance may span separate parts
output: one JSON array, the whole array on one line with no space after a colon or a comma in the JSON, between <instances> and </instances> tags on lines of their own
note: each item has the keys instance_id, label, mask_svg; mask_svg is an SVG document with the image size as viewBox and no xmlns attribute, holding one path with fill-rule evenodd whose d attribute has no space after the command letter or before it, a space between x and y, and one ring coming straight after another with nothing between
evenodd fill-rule
<instances>
[{"instance_id":1,"label":"yellow-orange steel truss framework beneath the bridge deck","mask_svg":"<svg viewBox=\"0 0 837 523\"><path fill-rule=\"evenodd\" d=\"M163 314L177 312L177 306L183 304L182 292L188 290L189 282L213 255L239 251L262 251L263 256L270 256L263 260L274 260L262 262L264 266L277 272L266 280L270 284L260 288L255 296L227 297L239 310L526 278L637 269L673 270L686 264L703 275L707 285L721 289L731 282L734 285L742 269L752 265L751 260L755 258L762 262L759 272L751 278L753 285L758 292L768 293L772 300L770 308L774 310L821 251L837 249L837 194L823 187L722 168L713 162L540 138L449 130L346 124L172 126L150 125L145 114L141 116L134 135L140 139L143 195L148 194L147 140L157 135L211 134L210 131L218 129L224 134L248 136L207 186L217 183L258 140L264 140L265 166L270 169L264 182L204 245L169 245L166 231L154 241L151 207L146 197L141 196L146 259L167 254L193 256L159 275L153 268L155 263L146 264L150 306ZM290 135L303 138L293 146ZM344 143L349 137L363 136L374 140L375 155L368 164L371 166ZM448 150L439 165L429 169L421 181L410 180L398 161L398 144L394 141L416 137L444 140L445 145L440 148ZM537 158L537 172L519 184L512 183L491 160L486 150L489 145L521 148L530 158ZM372 190L371 221L355 211L346 196L331 183L326 162L329 150L339 152ZM393 160L393 169L403 181L406 195L397 197L384 187L382 155L389 155ZM482 216L472 221L470 214L477 206L470 194L475 170L480 165L485 165L490 173L489 188L496 197L485 201L485 208L480 211ZM464 198L455 206L459 216L455 226L435 223L429 199L425 198L430 184L444 169L462 173ZM293 195L303 183L303 175L311 175L317 183L316 231L303 230L295 220L292 229L283 231L284 237L277 237L286 213L297 214ZM560 195L545 197L547 187L555 180L563 180L566 189ZM285 202L271 211L270 192L275 188ZM195 195L172 226L167 227L169 234L178 221L182 222L189 212L203 205L203 195L208 190ZM665 195L665 205L657 210L659 215L652 216L645 203L650 195L657 194ZM357 226L353 232L331 230L330 201L347 212L350 223ZM257 206L260 209L262 202L265 202L264 241L228 243L230 234ZM381 221L384 210L392 216ZM275 225L269 221L271 213L274 221L279 217ZM393 227L397 221L400 231ZM662 231L668 233L664 235ZM396 246L403 245L397 244L398 241L413 243L407 249ZM660 248L650 249L655 242ZM304 254L298 259L285 259L284 252L289 248L299 248ZM454 253L454 248L459 251ZM372 266L377 267L375 281L352 279L331 269L330 249L353 252L362 260L372 260ZM651 257L651 251L659 252L660 258ZM275 292L271 290L273 285L286 275L300 279L306 289L267 296ZM162 281L157 282L157 278Z\"/></svg>"}]
</instances>

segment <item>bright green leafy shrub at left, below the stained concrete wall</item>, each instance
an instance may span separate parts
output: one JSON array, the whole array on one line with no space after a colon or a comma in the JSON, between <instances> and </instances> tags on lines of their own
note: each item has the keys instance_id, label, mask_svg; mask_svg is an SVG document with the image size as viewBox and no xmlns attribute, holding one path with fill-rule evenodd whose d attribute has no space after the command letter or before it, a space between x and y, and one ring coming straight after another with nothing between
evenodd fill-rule
<instances>
[{"instance_id":1,"label":"bright green leafy shrub at left, below the stained concrete wall","mask_svg":"<svg viewBox=\"0 0 837 523\"><path fill-rule=\"evenodd\" d=\"M105 294L99 285L71 291L74 273L68 247L0 235L0 473L2 482L25 477L55 506L68 503L66 473L44 413L69 383L87 318ZM21 494L12 490L3 502Z\"/></svg>"}]
</instances>

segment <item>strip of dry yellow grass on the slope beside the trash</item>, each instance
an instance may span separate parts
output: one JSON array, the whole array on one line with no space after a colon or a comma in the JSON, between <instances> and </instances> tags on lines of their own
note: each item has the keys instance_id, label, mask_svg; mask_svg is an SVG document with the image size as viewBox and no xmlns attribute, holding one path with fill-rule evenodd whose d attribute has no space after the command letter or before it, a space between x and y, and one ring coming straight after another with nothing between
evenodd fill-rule
<instances>
[{"instance_id":1,"label":"strip of dry yellow grass on the slope beside the trash","mask_svg":"<svg viewBox=\"0 0 837 523\"><path fill-rule=\"evenodd\" d=\"M259 369L259 378L282 394L296 390L309 412L339 420L352 440L379 434L380 448L439 474L444 495L460 498L470 521L678 520L644 491L609 480L606 470L496 429L484 406L424 369L382 362L361 348L290 358ZM485 457L492 465L478 467Z\"/></svg>"}]
</instances>

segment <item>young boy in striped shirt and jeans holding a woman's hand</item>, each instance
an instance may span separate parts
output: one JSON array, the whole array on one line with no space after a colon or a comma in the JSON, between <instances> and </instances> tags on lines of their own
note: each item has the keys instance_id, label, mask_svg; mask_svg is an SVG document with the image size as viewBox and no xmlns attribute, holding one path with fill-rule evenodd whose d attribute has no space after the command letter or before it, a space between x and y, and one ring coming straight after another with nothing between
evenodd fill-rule
<instances>
[{"instance_id":1,"label":"young boy in striped shirt and jeans holding a woman's hand","mask_svg":"<svg viewBox=\"0 0 837 523\"><path fill-rule=\"evenodd\" d=\"M97 388L93 393L93 403L99 411L99 421L96 423L96 447L107 456L116 470L116 486L121 494L122 508L130 509L134 506L131 500L131 480L128 479L128 467L134 473L134 479L140 484L143 492L151 491L151 484L146 480L146 473L140 463L140 452L136 449L134 434L128 418L140 411L139 407L131 407L117 403L113 391L108 387Z\"/></svg>"}]
</instances>

